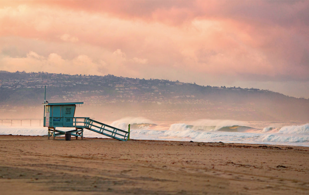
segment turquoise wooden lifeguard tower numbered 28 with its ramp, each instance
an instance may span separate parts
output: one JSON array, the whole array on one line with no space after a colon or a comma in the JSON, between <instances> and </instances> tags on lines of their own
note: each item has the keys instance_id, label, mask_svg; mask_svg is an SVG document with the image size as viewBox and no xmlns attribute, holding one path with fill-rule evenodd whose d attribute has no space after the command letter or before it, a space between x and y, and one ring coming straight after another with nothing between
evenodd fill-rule
<instances>
[{"instance_id":1,"label":"turquoise wooden lifeguard tower numbered 28 with its ramp","mask_svg":"<svg viewBox=\"0 0 309 195\"><path fill-rule=\"evenodd\" d=\"M68 133L70 133L70 136L75 136L76 139L78 137L83 139L83 131L84 129L88 129L117 140L128 140L129 131L100 123L89 117L74 117L76 105L80 104L83 104L83 102L48 103L45 101L43 104L44 127L48 127L48 139L50 136L53 136L53 139L55 139L57 136L67 135ZM56 129L56 127L70 127L75 129L65 132Z\"/></svg>"}]
</instances>

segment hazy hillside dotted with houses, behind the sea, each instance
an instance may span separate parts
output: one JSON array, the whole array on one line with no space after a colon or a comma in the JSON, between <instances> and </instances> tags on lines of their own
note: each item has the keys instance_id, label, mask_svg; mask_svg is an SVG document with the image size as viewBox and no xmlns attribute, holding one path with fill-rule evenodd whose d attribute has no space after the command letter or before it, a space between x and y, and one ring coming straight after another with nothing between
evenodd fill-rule
<instances>
[{"instance_id":1,"label":"hazy hillside dotted with houses, behind the sea","mask_svg":"<svg viewBox=\"0 0 309 195\"><path fill-rule=\"evenodd\" d=\"M0 118L43 115L49 102L84 102L76 116L116 120L297 120L309 119L309 100L260 89L200 86L180 81L113 75L66 75L0 71Z\"/></svg>"}]
</instances>

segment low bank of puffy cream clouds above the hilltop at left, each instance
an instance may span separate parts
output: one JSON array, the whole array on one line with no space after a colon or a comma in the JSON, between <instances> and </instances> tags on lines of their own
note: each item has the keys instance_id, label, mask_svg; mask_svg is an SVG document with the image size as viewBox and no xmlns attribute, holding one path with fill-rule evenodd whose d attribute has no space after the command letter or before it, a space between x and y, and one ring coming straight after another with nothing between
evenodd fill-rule
<instances>
[{"instance_id":1,"label":"low bank of puffy cream clouds above the hilltop at left","mask_svg":"<svg viewBox=\"0 0 309 195\"><path fill-rule=\"evenodd\" d=\"M108 58L109 56L109 58ZM29 51L26 57L10 57L0 55L0 69L6 71L53 72L65 74L121 74L123 76L139 76L138 66L128 67L129 64L147 63L147 59L129 59L120 49L106 55L99 61L94 61L87 55L78 55L73 59L64 59L61 55L51 53L44 57L34 51Z\"/></svg>"}]
</instances>

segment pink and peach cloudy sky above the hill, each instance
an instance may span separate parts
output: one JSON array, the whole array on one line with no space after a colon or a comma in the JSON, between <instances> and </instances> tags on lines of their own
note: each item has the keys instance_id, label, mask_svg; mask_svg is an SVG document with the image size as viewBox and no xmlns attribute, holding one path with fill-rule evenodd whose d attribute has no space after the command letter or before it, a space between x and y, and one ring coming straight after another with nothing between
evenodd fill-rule
<instances>
[{"instance_id":1,"label":"pink and peach cloudy sky above the hill","mask_svg":"<svg viewBox=\"0 0 309 195\"><path fill-rule=\"evenodd\" d=\"M309 98L309 1L2 1L0 70Z\"/></svg>"}]
</instances>

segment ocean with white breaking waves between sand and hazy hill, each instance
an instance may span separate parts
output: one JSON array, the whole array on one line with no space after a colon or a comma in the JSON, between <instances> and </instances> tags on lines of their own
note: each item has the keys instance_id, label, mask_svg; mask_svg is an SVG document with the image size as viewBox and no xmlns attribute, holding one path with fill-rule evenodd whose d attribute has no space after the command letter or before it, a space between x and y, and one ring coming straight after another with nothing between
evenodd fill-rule
<instances>
[{"instance_id":1,"label":"ocean with white breaking waves between sand and hazy hill","mask_svg":"<svg viewBox=\"0 0 309 195\"><path fill-rule=\"evenodd\" d=\"M153 122L141 117L126 117L113 122L104 122L111 126L128 130L130 139L167 140L194 142L223 142L242 144L297 145L309 147L309 124L295 121L236 121L199 119L196 121ZM59 128L69 131L72 128ZM0 135L44 136L47 128L32 122L32 126L23 122L0 125ZM84 137L105 136L84 130Z\"/></svg>"}]
</instances>

